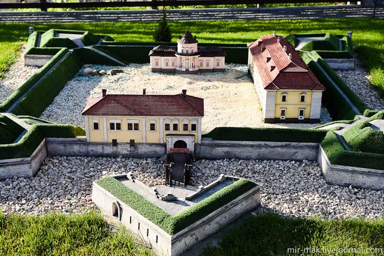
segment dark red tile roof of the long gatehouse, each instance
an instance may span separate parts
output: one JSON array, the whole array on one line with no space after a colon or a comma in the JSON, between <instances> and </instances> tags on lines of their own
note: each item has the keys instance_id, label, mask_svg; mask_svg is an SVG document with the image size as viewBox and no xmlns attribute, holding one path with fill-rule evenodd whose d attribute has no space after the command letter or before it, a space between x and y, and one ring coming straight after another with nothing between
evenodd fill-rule
<instances>
[{"instance_id":1,"label":"dark red tile roof of the long gatehouse","mask_svg":"<svg viewBox=\"0 0 384 256\"><path fill-rule=\"evenodd\" d=\"M176 95L116 95L88 101L84 116L204 116L204 100Z\"/></svg>"}]
</instances>

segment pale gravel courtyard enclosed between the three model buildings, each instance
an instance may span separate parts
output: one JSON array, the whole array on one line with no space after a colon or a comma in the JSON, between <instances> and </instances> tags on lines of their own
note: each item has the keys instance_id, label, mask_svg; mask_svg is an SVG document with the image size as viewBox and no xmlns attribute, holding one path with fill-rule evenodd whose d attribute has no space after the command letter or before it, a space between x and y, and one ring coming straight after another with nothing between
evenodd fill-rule
<instances>
[{"instance_id":1,"label":"pale gravel courtyard enclosed between the three model buildings","mask_svg":"<svg viewBox=\"0 0 384 256\"><path fill-rule=\"evenodd\" d=\"M93 68L110 70L114 67ZM124 73L117 75L76 76L40 117L57 123L73 123L84 128L81 112L89 98L101 96L101 89L108 89L107 93L111 94L140 94L143 88L147 89L148 94L175 94L187 89L188 94L205 100L203 133L219 126L310 128L318 125L264 123L256 90L247 75L246 65L229 64L224 73L200 75L152 73L148 64L131 64L122 69ZM321 123L328 121L330 116L324 109Z\"/></svg>"}]
</instances>

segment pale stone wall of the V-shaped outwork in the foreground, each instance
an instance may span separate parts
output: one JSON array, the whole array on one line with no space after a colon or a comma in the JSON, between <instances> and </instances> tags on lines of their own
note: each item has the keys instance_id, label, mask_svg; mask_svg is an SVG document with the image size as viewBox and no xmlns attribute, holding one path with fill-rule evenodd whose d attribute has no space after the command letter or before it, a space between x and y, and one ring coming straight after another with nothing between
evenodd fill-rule
<instances>
[{"instance_id":1,"label":"pale stone wall of the V-shaped outwork in the foreground","mask_svg":"<svg viewBox=\"0 0 384 256\"><path fill-rule=\"evenodd\" d=\"M117 205L119 211L116 211L115 218L156 250L158 255L178 256L184 255L193 246L219 232L244 213L256 209L260 205L260 188L253 188L172 236L96 183L92 188L92 200L103 213L109 216L113 216L113 204Z\"/></svg>"}]
</instances>

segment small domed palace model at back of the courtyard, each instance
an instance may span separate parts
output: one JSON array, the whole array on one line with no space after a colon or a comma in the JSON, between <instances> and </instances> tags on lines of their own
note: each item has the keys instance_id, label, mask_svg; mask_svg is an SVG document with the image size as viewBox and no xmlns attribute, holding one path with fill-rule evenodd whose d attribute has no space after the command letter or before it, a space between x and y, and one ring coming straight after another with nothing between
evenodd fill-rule
<instances>
[{"instance_id":1,"label":"small domed palace model at back of the courtyard","mask_svg":"<svg viewBox=\"0 0 384 256\"><path fill-rule=\"evenodd\" d=\"M223 71L226 52L216 46L198 47L189 31L177 41L177 47L158 45L149 52L152 72L198 73Z\"/></svg>"}]
</instances>

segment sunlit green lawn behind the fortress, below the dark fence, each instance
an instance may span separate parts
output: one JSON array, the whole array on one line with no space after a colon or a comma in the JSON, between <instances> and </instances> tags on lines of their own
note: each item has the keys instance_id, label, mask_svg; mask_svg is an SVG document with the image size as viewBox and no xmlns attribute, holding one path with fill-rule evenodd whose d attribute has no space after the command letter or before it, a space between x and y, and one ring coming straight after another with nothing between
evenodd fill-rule
<instances>
[{"instance_id":1,"label":"sunlit green lawn behind the fortress, below the dark fence","mask_svg":"<svg viewBox=\"0 0 384 256\"><path fill-rule=\"evenodd\" d=\"M27 40L31 24L1 24L0 75L15 60L21 40ZM152 41L156 23L70 23L36 24L37 30L79 29L110 35L119 41ZM384 20L379 19L326 19L326 20L257 20L222 22L170 22L173 41L189 29L205 43L248 43L259 36L276 30L280 35L289 33L334 33L353 31L353 44L358 58L371 75L371 81L384 96Z\"/></svg>"}]
</instances>

